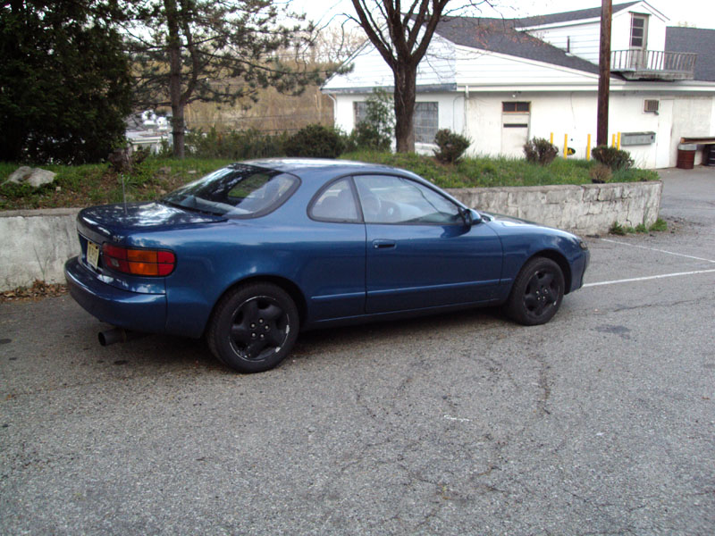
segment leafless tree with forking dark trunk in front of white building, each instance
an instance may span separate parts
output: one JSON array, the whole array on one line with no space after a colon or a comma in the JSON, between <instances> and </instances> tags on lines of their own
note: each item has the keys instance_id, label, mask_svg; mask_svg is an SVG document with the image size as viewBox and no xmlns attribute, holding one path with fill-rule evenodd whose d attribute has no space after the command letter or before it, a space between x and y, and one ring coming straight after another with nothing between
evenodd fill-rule
<instances>
[{"instance_id":1,"label":"leafless tree with forking dark trunk in front of white building","mask_svg":"<svg viewBox=\"0 0 715 536\"><path fill-rule=\"evenodd\" d=\"M394 76L397 150L412 152L417 65L425 57L437 24L456 10L491 4L489 0L410 0L404 7L400 0L352 0L352 4L357 18L349 15L349 19L365 30Z\"/></svg>"}]
</instances>

